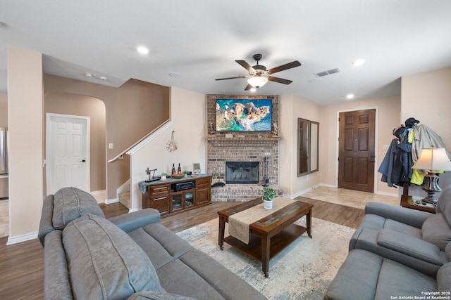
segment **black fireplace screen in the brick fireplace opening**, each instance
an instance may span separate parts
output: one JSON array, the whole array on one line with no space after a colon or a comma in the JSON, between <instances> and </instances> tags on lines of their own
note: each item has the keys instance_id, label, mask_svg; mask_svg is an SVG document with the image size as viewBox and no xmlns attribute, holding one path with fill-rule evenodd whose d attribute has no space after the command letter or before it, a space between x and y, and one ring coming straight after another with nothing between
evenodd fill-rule
<instances>
[{"instance_id":1,"label":"black fireplace screen in the brick fireplace opening","mask_svg":"<svg viewBox=\"0 0 451 300\"><path fill-rule=\"evenodd\" d=\"M226 162L226 183L259 183L259 162Z\"/></svg>"}]
</instances>

